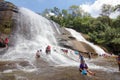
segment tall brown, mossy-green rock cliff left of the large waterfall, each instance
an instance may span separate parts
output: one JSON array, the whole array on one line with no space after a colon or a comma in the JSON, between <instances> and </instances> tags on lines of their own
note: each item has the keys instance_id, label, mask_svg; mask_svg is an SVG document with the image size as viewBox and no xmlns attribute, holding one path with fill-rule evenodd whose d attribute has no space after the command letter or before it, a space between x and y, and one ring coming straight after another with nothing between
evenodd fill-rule
<instances>
[{"instance_id":1,"label":"tall brown, mossy-green rock cliff left of the large waterfall","mask_svg":"<svg viewBox=\"0 0 120 80\"><path fill-rule=\"evenodd\" d=\"M9 34L11 34L14 27L15 19L13 16L15 16L16 13L18 13L18 8L14 4L0 0L0 38L3 40L5 40L6 37L10 40ZM0 54L6 50L4 48L1 49L1 47L4 47L4 43L0 45Z\"/></svg>"}]
</instances>

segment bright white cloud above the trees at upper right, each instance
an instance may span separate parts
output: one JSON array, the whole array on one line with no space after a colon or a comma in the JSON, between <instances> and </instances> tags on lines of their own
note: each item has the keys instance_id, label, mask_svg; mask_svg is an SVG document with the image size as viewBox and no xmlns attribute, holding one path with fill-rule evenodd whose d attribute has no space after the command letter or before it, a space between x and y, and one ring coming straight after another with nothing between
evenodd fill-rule
<instances>
[{"instance_id":1,"label":"bright white cloud above the trees at upper right","mask_svg":"<svg viewBox=\"0 0 120 80\"><path fill-rule=\"evenodd\" d=\"M90 13L93 17L98 17L101 13L101 8L103 4L110 4L112 6L120 4L120 0L95 0L92 4L82 4L80 5L84 11ZM115 12L110 15L111 18L116 18L119 12Z\"/></svg>"}]
</instances>

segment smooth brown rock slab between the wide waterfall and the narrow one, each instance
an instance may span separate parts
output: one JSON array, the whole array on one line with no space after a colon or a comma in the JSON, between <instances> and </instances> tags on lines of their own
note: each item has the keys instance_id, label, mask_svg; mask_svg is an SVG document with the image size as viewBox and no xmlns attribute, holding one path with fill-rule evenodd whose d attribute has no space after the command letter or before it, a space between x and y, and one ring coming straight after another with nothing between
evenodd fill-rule
<instances>
[{"instance_id":1,"label":"smooth brown rock slab between the wide waterfall and the narrow one","mask_svg":"<svg viewBox=\"0 0 120 80\"><path fill-rule=\"evenodd\" d=\"M77 41L65 28L61 28L61 35L59 35L59 44L66 48L71 48L73 50L78 50L83 53L92 52L96 53L95 50L88 44Z\"/></svg>"}]
</instances>

